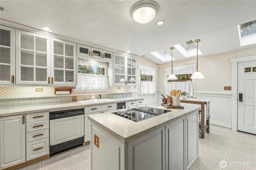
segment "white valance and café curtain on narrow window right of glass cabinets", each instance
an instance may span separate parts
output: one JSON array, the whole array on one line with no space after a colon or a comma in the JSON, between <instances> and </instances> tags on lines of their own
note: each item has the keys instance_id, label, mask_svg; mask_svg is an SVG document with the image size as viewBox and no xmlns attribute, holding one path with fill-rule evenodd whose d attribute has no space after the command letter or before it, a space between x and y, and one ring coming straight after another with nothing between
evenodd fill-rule
<instances>
[{"instance_id":1,"label":"white valance and caf\u00e9 curtain on narrow window right of glass cabinets","mask_svg":"<svg viewBox=\"0 0 256 170\"><path fill-rule=\"evenodd\" d=\"M140 81L139 94L156 94L156 69L144 66L138 66L139 68L139 78L141 74L146 74L152 76L152 82Z\"/></svg>"}]
</instances>

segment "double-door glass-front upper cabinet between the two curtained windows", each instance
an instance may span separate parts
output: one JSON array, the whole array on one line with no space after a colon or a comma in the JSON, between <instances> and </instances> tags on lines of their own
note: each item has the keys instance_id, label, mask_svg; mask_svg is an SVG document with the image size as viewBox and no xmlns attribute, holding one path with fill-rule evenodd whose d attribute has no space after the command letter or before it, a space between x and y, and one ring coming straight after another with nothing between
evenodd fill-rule
<instances>
[{"instance_id":1,"label":"double-door glass-front upper cabinet between the two curtained windows","mask_svg":"<svg viewBox=\"0 0 256 170\"><path fill-rule=\"evenodd\" d=\"M136 86L136 66L136 58L114 54L114 85Z\"/></svg>"}]
</instances>

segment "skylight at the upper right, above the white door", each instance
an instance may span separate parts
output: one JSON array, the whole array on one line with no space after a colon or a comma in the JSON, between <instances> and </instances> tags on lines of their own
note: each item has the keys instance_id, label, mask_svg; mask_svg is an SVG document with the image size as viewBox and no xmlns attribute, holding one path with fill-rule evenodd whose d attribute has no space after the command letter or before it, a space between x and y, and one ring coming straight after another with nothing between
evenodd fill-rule
<instances>
[{"instance_id":1,"label":"skylight at the upper right, above the white door","mask_svg":"<svg viewBox=\"0 0 256 170\"><path fill-rule=\"evenodd\" d=\"M256 43L256 20L238 25L240 46Z\"/></svg>"}]
</instances>

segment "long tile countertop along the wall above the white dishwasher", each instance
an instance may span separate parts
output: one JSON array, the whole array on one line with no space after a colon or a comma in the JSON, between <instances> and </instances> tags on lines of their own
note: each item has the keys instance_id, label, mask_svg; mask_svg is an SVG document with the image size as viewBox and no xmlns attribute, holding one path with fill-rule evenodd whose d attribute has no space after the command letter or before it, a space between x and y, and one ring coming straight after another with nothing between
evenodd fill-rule
<instances>
[{"instance_id":1,"label":"long tile countertop along the wall above the white dishwasher","mask_svg":"<svg viewBox=\"0 0 256 170\"><path fill-rule=\"evenodd\" d=\"M116 102L128 102L132 100L144 100L144 98L114 98L113 102L102 102L93 104L82 104L80 102L65 102L65 103L53 103L53 104L38 104L38 105L28 105L28 106L14 106L14 107L1 107L0 117L12 116L12 115L22 115L28 113L37 113L43 111L59 111L66 109L78 109L88 106L97 106L103 104L111 104Z\"/></svg>"}]
</instances>

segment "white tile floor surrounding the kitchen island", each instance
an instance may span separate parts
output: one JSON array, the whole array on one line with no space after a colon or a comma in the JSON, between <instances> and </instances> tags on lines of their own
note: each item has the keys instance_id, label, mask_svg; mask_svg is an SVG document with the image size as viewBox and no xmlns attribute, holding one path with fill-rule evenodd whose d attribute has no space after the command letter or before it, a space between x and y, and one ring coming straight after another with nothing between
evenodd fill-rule
<instances>
[{"instance_id":1,"label":"white tile floor surrounding the kitchen island","mask_svg":"<svg viewBox=\"0 0 256 170\"><path fill-rule=\"evenodd\" d=\"M210 128L204 139L199 137L199 158L190 170L256 170L256 135L213 125ZM55 154L20 170L90 170L90 145Z\"/></svg>"}]
</instances>

